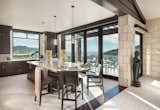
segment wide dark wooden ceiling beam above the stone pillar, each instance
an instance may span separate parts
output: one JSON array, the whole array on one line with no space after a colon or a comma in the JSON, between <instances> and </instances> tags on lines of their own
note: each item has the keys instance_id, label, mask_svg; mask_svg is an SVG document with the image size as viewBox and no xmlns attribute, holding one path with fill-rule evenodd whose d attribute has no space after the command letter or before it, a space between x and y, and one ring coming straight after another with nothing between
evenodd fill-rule
<instances>
[{"instance_id":1,"label":"wide dark wooden ceiling beam above the stone pillar","mask_svg":"<svg viewBox=\"0 0 160 110\"><path fill-rule=\"evenodd\" d=\"M118 16L130 14L134 18L146 24L146 19L143 16L136 0L92 0L100 6L109 9Z\"/></svg>"}]
</instances>

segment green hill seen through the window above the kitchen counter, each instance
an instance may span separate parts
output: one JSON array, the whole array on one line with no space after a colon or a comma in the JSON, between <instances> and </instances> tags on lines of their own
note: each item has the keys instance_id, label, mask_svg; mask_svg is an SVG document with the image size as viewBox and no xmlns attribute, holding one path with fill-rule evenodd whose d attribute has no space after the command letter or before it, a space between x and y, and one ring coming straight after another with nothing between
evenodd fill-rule
<instances>
[{"instance_id":1,"label":"green hill seen through the window above the kitchen counter","mask_svg":"<svg viewBox=\"0 0 160 110\"><path fill-rule=\"evenodd\" d=\"M27 46L15 46L13 47L14 54L32 54L35 51L38 51L38 48L31 48Z\"/></svg>"}]
</instances>

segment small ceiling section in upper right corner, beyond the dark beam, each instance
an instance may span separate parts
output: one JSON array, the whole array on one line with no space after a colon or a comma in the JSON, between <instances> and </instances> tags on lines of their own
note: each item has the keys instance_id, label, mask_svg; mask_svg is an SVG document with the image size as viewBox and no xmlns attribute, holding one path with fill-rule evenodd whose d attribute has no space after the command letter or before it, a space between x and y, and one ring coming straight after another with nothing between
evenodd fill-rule
<instances>
[{"instance_id":1,"label":"small ceiling section in upper right corner, beyond the dark beam","mask_svg":"<svg viewBox=\"0 0 160 110\"><path fill-rule=\"evenodd\" d=\"M160 17L160 0L136 0L146 19Z\"/></svg>"}]
</instances>

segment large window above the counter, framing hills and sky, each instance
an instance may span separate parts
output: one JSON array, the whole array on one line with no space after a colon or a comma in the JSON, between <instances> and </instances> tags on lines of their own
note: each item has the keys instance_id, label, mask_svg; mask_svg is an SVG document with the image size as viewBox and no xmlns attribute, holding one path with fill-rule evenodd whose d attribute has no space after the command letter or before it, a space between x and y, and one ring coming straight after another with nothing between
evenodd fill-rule
<instances>
[{"instance_id":1,"label":"large window above the counter, framing hills and sky","mask_svg":"<svg viewBox=\"0 0 160 110\"><path fill-rule=\"evenodd\" d=\"M13 59L38 60L39 34L13 31Z\"/></svg>"}]
</instances>

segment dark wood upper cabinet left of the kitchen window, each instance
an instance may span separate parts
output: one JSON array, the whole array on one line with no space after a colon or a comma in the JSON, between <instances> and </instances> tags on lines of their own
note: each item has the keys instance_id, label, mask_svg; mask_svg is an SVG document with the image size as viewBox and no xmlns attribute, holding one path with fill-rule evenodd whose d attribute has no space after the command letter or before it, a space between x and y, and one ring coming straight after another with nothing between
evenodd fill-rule
<instances>
[{"instance_id":1,"label":"dark wood upper cabinet left of the kitchen window","mask_svg":"<svg viewBox=\"0 0 160 110\"><path fill-rule=\"evenodd\" d=\"M10 54L11 26L0 25L0 54Z\"/></svg>"}]
</instances>

